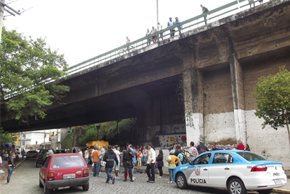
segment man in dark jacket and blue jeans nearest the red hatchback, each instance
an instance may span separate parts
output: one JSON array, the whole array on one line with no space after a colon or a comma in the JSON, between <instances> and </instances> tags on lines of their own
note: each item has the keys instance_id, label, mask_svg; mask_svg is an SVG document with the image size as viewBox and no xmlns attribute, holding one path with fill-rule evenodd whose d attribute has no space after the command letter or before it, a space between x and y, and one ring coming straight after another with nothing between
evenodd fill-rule
<instances>
[{"instance_id":1,"label":"man in dark jacket and blue jeans nearest the red hatchback","mask_svg":"<svg viewBox=\"0 0 290 194\"><path fill-rule=\"evenodd\" d=\"M118 164L118 159L114 151L112 151L112 146L108 146L108 151L105 152L105 156L103 160L106 162L105 164L105 172L107 173L107 181L105 183L110 183L110 179L112 179L112 184L115 183L115 178L112 178L112 167L114 166L114 161Z\"/></svg>"}]
</instances>

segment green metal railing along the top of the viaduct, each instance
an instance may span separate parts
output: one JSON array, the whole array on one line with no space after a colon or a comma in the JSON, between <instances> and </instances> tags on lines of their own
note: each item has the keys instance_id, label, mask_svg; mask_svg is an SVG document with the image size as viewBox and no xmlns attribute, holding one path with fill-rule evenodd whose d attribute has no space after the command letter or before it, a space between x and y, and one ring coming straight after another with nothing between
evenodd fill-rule
<instances>
[{"instance_id":1,"label":"green metal railing along the top of the viaduct","mask_svg":"<svg viewBox=\"0 0 290 194\"><path fill-rule=\"evenodd\" d=\"M255 1L255 3L258 1ZM69 68L67 71L68 74L74 74L76 72L80 72L84 69L88 69L90 67L94 67L97 64L103 63L103 62L108 62L111 59L120 59L122 55L128 54L127 57L130 57L130 54L132 54L133 51L139 50L142 47L146 47L147 43L152 43L153 40L151 39L153 36L157 35L157 40L159 41L160 38L168 38L170 37L171 34L173 33L181 33L190 30L190 28L197 28L200 23L204 23L205 21L209 20L212 21L214 18L218 18L220 16L224 16L227 13L231 13L233 11L238 10L239 8L249 6L250 4L248 3L248 0L236 0L232 1L229 4L226 4L224 6L220 6L219 8L215 8L208 13L202 13L198 16L195 16L193 18L190 18L186 21L183 21L179 24L175 24L170 26L169 28L160 30L152 35L148 35L143 38L139 38L138 40L132 41L127 45L122 45L120 47L117 47L113 50L110 50L108 52L103 53L102 55L98 55L96 57L93 57L91 59L88 59L84 62L81 62L79 64L76 64L72 67ZM208 19L204 20L204 16L207 16ZM178 27L182 26L181 29ZM175 30L175 32L170 32L170 30L173 30L175 28L178 28L178 30ZM129 50L127 49L129 48ZM115 61L112 61L115 62Z\"/></svg>"}]
</instances>

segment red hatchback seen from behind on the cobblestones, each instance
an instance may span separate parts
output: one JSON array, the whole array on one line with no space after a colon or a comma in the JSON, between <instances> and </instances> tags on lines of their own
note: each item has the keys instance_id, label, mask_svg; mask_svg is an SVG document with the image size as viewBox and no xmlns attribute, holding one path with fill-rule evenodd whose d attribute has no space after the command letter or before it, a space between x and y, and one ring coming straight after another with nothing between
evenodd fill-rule
<instances>
[{"instance_id":1,"label":"red hatchback seen from behind on the cobblestones","mask_svg":"<svg viewBox=\"0 0 290 194\"><path fill-rule=\"evenodd\" d=\"M53 154L47 156L40 168L40 188L43 193L63 187L78 187L88 190L88 166L80 154Z\"/></svg>"}]
</instances>

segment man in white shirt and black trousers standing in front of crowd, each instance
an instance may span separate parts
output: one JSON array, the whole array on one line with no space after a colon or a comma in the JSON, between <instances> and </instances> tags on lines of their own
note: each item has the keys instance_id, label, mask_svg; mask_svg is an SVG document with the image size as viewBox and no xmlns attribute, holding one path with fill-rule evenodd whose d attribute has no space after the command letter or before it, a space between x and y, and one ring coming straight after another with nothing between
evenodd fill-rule
<instances>
[{"instance_id":1,"label":"man in white shirt and black trousers standing in front of crowd","mask_svg":"<svg viewBox=\"0 0 290 194\"><path fill-rule=\"evenodd\" d=\"M155 162L156 162L156 152L152 147L152 144L148 145L149 149L149 154L148 154L148 159L147 159L147 167L146 167L146 173L148 176L148 181L149 183L155 183Z\"/></svg>"}]
</instances>

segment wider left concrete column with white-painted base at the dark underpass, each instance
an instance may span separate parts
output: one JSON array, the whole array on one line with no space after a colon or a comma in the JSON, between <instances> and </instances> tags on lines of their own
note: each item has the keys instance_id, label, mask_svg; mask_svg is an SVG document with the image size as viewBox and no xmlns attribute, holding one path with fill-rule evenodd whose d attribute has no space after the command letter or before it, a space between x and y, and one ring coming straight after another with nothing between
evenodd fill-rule
<instances>
[{"instance_id":1,"label":"wider left concrete column with white-painted base at the dark underpass","mask_svg":"<svg viewBox=\"0 0 290 194\"><path fill-rule=\"evenodd\" d=\"M204 135L201 76L198 70L193 67L186 69L182 74L187 146L190 145L190 142L195 142L195 144L197 144L200 135Z\"/></svg>"}]
</instances>

